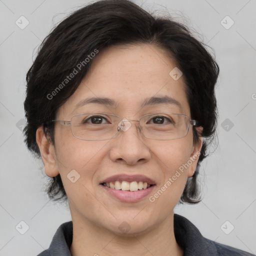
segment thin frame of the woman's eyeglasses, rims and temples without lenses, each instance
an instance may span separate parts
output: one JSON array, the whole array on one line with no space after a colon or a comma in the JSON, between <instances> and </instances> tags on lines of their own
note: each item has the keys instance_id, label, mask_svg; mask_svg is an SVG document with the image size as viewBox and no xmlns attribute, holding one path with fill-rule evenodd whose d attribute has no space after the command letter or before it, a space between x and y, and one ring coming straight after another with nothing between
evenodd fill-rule
<instances>
[{"instance_id":1,"label":"thin frame of the woman's eyeglasses, rims and temples without lenses","mask_svg":"<svg viewBox=\"0 0 256 256\"><path fill-rule=\"evenodd\" d=\"M78 138L78 137L76 137L76 136L73 134L73 131L72 131L72 128L71 128L71 119L72 119L73 116L81 115L81 114L94 114L94 115L96 115L96 114L110 114L110 115L114 115L114 116L116 116L116 117L121 118L120 116L118 116L118 115L116 115L116 114L111 114L111 113L79 113L79 114L74 114L74 115L72 115L71 118L70 118L70 121L66 121L66 120L51 120L51 121L53 121L53 122L58 122L58 123L60 123L60 124L62 124L62 125L70 125L71 133L72 133L72 135L73 135L75 138L81 139L81 140L88 140L88 141L99 141L99 140L112 139L112 138L117 137L117 136L119 135L120 131L122 130L122 128L120 128L119 126L117 126L118 132L117 132L113 137L110 137L110 138L104 138L104 139L84 139L84 138ZM189 118L189 116L186 115L186 114L169 113L169 112L144 114L144 115L142 115L139 119L125 119L125 118L123 118L123 119L121 119L120 121L122 121L122 122L123 122L123 121L138 121L139 131L141 132L141 134L142 134L145 138L148 138L148 137L146 137L146 136L143 134L143 132L142 132L142 128L141 128L141 126L140 126L140 119L141 119L142 117L146 116L146 115L157 115L157 114L177 114L177 115L184 115L184 116L187 116L187 118L188 118L187 132L186 132L186 134L185 134L184 136L178 137L178 138L183 138L183 137L185 137L185 136L187 135L188 130L189 130L189 128L190 128L190 124L191 124L192 126L198 126L198 121L197 121L197 120L191 120L191 119ZM118 129L118 128L119 128L119 129ZM178 139L178 138L163 138L163 139L148 138L148 139L155 139L155 140L172 140L172 139Z\"/></svg>"}]
</instances>

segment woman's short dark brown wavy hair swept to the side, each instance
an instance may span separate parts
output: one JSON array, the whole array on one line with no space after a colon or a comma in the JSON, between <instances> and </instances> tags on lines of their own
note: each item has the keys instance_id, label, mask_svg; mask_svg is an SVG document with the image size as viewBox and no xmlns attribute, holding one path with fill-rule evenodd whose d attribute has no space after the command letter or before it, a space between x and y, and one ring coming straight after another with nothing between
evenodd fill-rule
<instances>
[{"instance_id":1,"label":"woman's short dark brown wavy hair swept to the side","mask_svg":"<svg viewBox=\"0 0 256 256\"><path fill-rule=\"evenodd\" d=\"M36 143L36 129L43 126L45 135L54 145L56 110L76 90L87 73L91 56L117 44L149 43L163 48L182 71L191 118L203 127L199 134L193 126L193 143L204 137L195 173L187 178L179 202L200 201L196 181L201 161L208 155L206 149L216 135L217 106L215 84L219 67L203 42L190 29L171 17L149 14L129 0L100 0L72 12L56 25L41 43L37 56L26 74L24 101L27 124L25 143L36 157L40 157ZM86 63L85 63L86 62ZM75 76L63 81L78 69ZM62 83L61 83L62 82ZM62 86L60 86L62 84ZM56 90L61 87L61 90ZM53 92L55 91L55 92ZM54 100L51 100L54 94ZM60 175L50 178L47 194L54 201L66 199Z\"/></svg>"}]
</instances>

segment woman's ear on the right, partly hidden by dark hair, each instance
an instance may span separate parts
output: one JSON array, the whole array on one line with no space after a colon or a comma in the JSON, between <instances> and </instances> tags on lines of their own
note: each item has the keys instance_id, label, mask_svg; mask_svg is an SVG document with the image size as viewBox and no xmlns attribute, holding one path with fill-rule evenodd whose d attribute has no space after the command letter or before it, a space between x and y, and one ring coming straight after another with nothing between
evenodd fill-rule
<instances>
[{"instance_id":1,"label":"woman's ear on the right, partly hidden by dark hair","mask_svg":"<svg viewBox=\"0 0 256 256\"><path fill-rule=\"evenodd\" d=\"M197 133L201 134L203 127L196 127ZM191 154L190 154L190 159L188 160L188 171L187 171L187 176L191 177L196 169L196 165L199 159L199 155L200 155L200 151L202 148L202 142L203 142L203 138L201 136L199 136L199 141L196 145L193 145L192 150L191 150Z\"/></svg>"}]
</instances>

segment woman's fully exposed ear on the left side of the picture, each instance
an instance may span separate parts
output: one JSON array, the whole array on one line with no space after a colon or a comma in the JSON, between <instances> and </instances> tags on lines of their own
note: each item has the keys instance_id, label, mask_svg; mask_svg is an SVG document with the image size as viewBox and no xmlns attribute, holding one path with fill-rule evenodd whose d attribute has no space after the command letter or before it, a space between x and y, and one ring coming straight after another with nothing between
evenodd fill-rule
<instances>
[{"instance_id":1,"label":"woman's fully exposed ear on the left side of the picture","mask_svg":"<svg viewBox=\"0 0 256 256\"><path fill-rule=\"evenodd\" d=\"M46 175L49 177L56 176L59 171L54 146L48 141L42 126L36 130L36 142L40 149Z\"/></svg>"}]
</instances>

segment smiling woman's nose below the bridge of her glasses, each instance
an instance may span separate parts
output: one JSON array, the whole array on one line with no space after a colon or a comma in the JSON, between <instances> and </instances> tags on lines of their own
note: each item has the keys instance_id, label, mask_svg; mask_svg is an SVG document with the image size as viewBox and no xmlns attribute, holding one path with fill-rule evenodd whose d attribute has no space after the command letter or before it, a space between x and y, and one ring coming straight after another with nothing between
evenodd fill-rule
<instances>
[{"instance_id":1,"label":"smiling woman's nose below the bridge of her glasses","mask_svg":"<svg viewBox=\"0 0 256 256\"><path fill-rule=\"evenodd\" d=\"M112 161L132 165L147 162L150 159L150 150L140 132L139 123L135 121L138 120L122 119L118 124L120 132L118 136L111 139L110 159Z\"/></svg>"}]
</instances>

